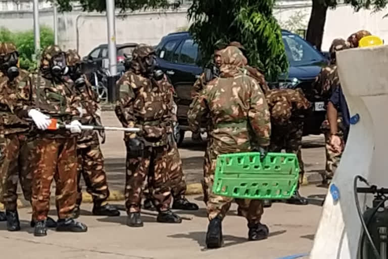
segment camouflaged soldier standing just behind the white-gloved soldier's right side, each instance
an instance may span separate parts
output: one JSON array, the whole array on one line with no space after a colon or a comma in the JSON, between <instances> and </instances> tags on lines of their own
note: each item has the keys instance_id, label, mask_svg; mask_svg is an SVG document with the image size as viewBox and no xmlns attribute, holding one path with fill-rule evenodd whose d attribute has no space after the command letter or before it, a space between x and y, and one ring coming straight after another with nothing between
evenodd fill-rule
<instances>
[{"instance_id":1,"label":"camouflaged soldier standing just behind the white-gloved soldier's right side","mask_svg":"<svg viewBox=\"0 0 388 259\"><path fill-rule=\"evenodd\" d=\"M82 62L75 50L66 53L69 75L75 84L75 93L80 99L81 123L86 125L102 125L100 99L92 90L92 86L82 73ZM105 133L100 132L103 142ZM104 156L100 149L98 134L92 131L84 131L77 140L78 179L77 179L77 203L73 211L74 218L80 214L82 202L81 175L86 184L86 191L93 198L94 215L117 217L120 211L107 203L109 188L105 173Z\"/></svg>"}]
</instances>

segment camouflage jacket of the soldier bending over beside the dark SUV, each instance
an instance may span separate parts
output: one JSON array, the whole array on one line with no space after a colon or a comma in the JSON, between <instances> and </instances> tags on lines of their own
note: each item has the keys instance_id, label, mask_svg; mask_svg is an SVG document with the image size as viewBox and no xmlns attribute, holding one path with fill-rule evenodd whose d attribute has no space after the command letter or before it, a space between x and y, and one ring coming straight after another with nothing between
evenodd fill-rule
<instances>
[{"instance_id":1,"label":"camouflage jacket of the soldier bending over beside the dark SUV","mask_svg":"<svg viewBox=\"0 0 388 259\"><path fill-rule=\"evenodd\" d=\"M274 125L287 125L304 116L304 111L311 107L301 89L276 89L266 94Z\"/></svg>"}]
</instances>

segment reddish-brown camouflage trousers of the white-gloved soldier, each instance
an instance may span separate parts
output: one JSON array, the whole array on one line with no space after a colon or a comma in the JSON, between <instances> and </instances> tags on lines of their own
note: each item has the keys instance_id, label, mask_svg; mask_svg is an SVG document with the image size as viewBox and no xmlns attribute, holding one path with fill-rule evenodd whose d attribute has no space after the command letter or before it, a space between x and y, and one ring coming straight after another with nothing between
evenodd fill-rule
<instances>
[{"instance_id":1,"label":"reddish-brown camouflage trousers of the white-gloved soldier","mask_svg":"<svg viewBox=\"0 0 388 259\"><path fill-rule=\"evenodd\" d=\"M47 139L35 142L38 163L33 170L33 219L47 219L50 188L56 182L56 205L59 219L72 217L77 199L77 153L75 138Z\"/></svg>"}]
</instances>

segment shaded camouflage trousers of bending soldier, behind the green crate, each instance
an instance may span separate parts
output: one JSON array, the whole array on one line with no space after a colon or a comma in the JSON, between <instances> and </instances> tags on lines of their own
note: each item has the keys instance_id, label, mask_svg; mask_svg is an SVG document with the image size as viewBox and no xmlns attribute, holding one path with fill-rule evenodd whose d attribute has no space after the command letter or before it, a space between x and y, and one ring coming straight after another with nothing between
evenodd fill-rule
<instances>
[{"instance_id":1,"label":"shaded camouflage trousers of bending soldier, behind the green crate","mask_svg":"<svg viewBox=\"0 0 388 259\"><path fill-rule=\"evenodd\" d=\"M269 152L279 153L284 149L286 153L297 155L300 167L299 185L302 184L305 174L305 165L302 160L302 137L303 121L292 121L286 126L273 125L269 146Z\"/></svg>"}]
</instances>

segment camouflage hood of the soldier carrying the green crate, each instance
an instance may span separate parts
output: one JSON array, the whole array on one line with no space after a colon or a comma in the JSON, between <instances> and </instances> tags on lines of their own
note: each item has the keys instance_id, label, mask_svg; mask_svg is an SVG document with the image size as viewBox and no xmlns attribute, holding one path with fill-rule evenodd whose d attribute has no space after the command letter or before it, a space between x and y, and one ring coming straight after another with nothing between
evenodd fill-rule
<instances>
[{"instance_id":1,"label":"camouflage hood of the soldier carrying the green crate","mask_svg":"<svg viewBox=\"0 0 388 259\"><path fill-rule=\"evenodd\" d=\"M233 77L240 73L239 68L247 65L247 58L237 48L233 46L226 47L221 51L222 65L220 67L221 77Z\"/></svg>"}]
</instances>

